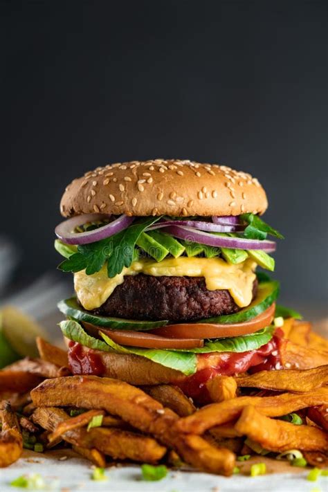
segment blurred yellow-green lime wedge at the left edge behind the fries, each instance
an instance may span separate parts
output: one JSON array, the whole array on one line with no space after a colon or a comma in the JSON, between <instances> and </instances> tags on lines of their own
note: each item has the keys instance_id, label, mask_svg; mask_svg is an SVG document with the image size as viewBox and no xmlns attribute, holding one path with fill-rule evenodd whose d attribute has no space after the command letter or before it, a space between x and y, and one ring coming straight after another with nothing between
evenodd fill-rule
<instances>
[{"instance_id":1,"label":"blurred yellow-green lime wedge at the left edge behind the fries","mask_svg":"<svg viewBox=\"0 0 328 492\"><path fill-rule=\"evenodd\" d=\"M37 357L35 338L46 338L44 329L33 318L12 306L5 306L1 310L2 334L8 345L19 356Z\"/></svg>"}]
</instances>

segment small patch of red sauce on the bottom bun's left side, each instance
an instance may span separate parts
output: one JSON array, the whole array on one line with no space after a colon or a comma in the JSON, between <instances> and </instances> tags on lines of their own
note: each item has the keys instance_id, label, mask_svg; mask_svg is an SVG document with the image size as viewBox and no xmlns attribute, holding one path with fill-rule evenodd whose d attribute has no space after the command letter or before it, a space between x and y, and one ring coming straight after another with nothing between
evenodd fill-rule
<instances>
[{"instance_id":1,"label":"small patch of red sauce on the bottom bun's left side","mask_svg":"<svg viewBox=\"0 0 328 492\"><path fill-rule=\"evenodd\" d=\"M93 350L85 349L80 343L71 340L68 355L72 374L93 374L93 376L104 374L101 358Z\"/></svg>"}]
</instances>

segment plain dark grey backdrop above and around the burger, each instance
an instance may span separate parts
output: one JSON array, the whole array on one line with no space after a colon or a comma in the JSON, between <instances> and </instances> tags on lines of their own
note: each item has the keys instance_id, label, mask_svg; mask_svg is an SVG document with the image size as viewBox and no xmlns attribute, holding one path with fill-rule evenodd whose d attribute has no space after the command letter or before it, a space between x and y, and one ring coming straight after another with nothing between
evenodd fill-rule
<instances>
[{"instance_id":1,"label":"plain dark grey backdrop above and around the burger","mask_svg":"<svg viewBox=\"0 0 328 492\"><path fill-rule=\"evenodd\" d=\"M66 184L110 162L225 163L259 178L286 235L282 297L327 300L325 2L1 2L1 232L17 282L60 261Z\"/></svg>"}]
</instances>

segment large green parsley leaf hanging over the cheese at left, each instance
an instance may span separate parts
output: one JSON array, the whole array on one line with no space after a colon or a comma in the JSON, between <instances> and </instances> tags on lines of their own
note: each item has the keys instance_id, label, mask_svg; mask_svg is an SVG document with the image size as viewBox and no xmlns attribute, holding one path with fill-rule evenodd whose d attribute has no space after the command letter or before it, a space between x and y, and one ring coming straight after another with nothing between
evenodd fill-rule
<instances>
[{"instance_id":1,"label":"large green parsley leaf hanging over the cheese at left","mask_svg":"<svg viewBox=\"0 0 328 492\"><path fill-rule=\"evenodd\" d=\"M92 275L101 270L107 261L107 273L110 278L129 267L134 260L134 248L138 237L145 229L152 226L161 217L145 217L138 219L125 230L101 241L78 246L74 253L58 266L64 272L85 270L86 275Z\"/></svg>"}]
</instances>

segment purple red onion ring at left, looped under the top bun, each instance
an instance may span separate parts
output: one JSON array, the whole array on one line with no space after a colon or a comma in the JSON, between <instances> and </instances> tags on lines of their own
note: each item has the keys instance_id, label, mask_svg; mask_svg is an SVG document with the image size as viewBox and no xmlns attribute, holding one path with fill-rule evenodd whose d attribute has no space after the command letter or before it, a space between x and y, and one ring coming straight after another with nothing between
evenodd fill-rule
<instances>
[{"instance_id":1,"label":"purple red onion ring at left, looped under the top bun","mask_svg":"<svg viewBox=\"0 0 328 492\"><path fill-rule=\"evenodd\" d=\"M135 217L127 217L127 215L120 215L117 219L109 222L105 226L99 227L95 230L88 230L86 233L74 233L75 228L88 224L89 222L95 222L98 220L109 219L111 215L108 214L84 214L77 217L71 217L64 222L58 224L55 228L55 235L62 239L62 242L66 244L89 244L106 239L114 234L120 233L121 230L126 229L133 221Z\"/></svg>"}]
</instances>

